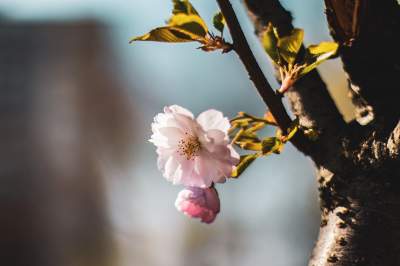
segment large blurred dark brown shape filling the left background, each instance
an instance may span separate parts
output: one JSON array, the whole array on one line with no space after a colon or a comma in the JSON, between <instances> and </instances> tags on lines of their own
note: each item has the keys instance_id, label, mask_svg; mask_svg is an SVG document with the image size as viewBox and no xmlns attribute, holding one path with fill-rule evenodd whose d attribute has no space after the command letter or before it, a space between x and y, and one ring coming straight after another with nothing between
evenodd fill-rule
<instances>
[{"instance_id":1,"label":"large blurred dark brown shape filling the left background","mask_svg":"<svg viewBox=\"0 0 400 266\"><path fill-rule=\"evenodd\" d=\"M0 24L2 265L116 265L102 160L124 156L131 110L105 34Z\"/></svg>"}]
</instances>

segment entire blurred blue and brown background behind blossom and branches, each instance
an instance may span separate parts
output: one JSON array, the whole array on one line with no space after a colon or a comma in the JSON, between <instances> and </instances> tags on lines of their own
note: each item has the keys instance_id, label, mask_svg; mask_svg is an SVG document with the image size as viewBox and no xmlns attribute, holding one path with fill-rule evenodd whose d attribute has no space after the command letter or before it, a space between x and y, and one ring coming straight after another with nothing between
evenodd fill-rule
<instances>
[{"instance_id":1,"label":"entire blurred blue and brown background behind blossom and branches","mask_svg":"<svg viewBox=\"0 0 400 266\"><path fill-rule=\"evenodd\" d=\"M232 2L278 86L241 2ZM215 1L192 3L206 21L217 11ZM330 39L322 1L283 4L307 44ZM0 0L1 265L306 265L319 228L317 188L312 162L290 145L217 186L213 224L175 210L181 188L162 178L147 141L154 115L171 104L230 117L262 115L265 106L234 53L128 44L171 8L165 0ZM351 119L339 60L320 71Z\"/></svg>"}]
</instances>

